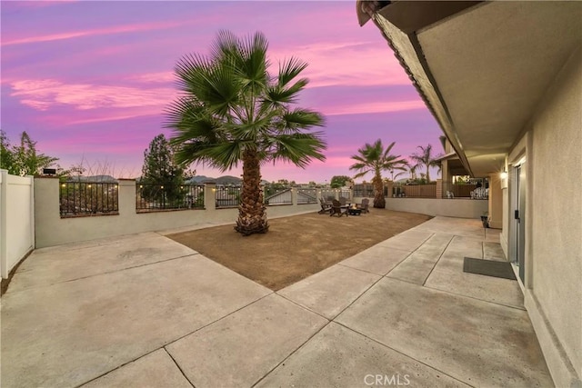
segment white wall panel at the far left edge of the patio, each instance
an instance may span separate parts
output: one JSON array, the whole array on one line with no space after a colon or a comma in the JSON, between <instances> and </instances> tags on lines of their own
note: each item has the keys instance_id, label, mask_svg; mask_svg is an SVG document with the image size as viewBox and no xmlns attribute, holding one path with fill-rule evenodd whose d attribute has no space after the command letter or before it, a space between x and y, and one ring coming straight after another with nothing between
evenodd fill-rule
<instances>
[{"instance_id":1,"label":"white wall panel at the far left edge of the patio","mask_svg":"<svg viewBox=\"0 0 582 388\"><path fill-rule=\"evenodd\" d=\"M7 278L28 252L35 248L33 178L0 174L0 268Z\"/></svg>"}]
</instances>

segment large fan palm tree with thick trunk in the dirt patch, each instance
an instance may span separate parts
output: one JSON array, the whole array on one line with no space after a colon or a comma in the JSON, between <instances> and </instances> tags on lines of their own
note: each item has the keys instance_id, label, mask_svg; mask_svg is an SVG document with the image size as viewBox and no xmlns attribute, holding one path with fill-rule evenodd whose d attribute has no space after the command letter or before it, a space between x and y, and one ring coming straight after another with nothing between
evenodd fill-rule
<instances>
[{"instance_id":1,"label":"large fan palm tree with thick trunk in the dirt patch","mask_svg":"<svg viewBox=\"0 0 582 388\"><path fill-rule=\"evenodd\" d=\"M261 33L240 39L220 32L210 55L185 55L177 62L182 95L166 112L177 163L226 171L242 162L235 229L243 235L268 230L261 164L282 160L305 168L313 158L325 160L323 133L306 131L324 125L323 116L292 107L307 85L306 78L296 79L307 64L292 57L270 75L267 46Z\"/></svg>"}]
</instances>

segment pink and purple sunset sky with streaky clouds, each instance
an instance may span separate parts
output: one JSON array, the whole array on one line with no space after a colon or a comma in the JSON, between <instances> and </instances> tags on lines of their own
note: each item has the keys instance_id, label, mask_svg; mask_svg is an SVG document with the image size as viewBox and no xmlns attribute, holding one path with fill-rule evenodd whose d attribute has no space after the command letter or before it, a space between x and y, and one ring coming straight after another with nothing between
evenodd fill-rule
<instances>
[{"instance_id":1,"label":"pink and purple sunset sky with streaky clouds","mask_svg":"<svg viewBox=\"0 0 582 388\"><path fill-rule=\"evenodd\" d=\"M125 1L1 3L2 129L23 131L64 168L141 174L144 150L164 128L176 98L173 68L183 55L206 55L221 29L263 32L269 57L306 61L310 84L300 106L326 116L326 162L305 170L268 164L263 178L329 182L353 175L351 155L365 143L442 147L437 122L375 25L360 27L355 1ZM192 165L197 174L238 176ZM387 172L385 174L387 176ZM364 179L371 179L371 176Z\"/></svg>"}]
</instances>

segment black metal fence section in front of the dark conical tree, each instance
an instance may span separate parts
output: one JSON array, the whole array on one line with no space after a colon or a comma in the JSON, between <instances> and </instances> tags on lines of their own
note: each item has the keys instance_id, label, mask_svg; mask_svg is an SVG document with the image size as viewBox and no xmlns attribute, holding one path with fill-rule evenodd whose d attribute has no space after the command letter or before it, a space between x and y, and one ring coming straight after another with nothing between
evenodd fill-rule
<instances>
[{"instance_id":1,"label":"black metal fence section in front of the dark conical tree","mask_svg":"<svg viewBox=\"0 0 582 388\"><path fill-rule=\"evenodd\" d=\"M137 213L172 209L204 209L204 186L193 184L136 184Z\"/></svg>"}]
</instances>

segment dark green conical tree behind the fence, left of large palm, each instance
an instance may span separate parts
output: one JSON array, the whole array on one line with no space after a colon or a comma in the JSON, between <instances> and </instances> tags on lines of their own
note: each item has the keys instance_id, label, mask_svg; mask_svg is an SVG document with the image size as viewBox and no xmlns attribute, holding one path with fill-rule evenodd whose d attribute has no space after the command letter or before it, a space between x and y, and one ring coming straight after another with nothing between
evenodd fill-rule
<instances>
[{"instance_id":1,"label":"dark green conical tree behind the fence, left of large palm","mask_svg":"<svg viewBox=\"0 0 582 388\"><path fill-rule=\"evenodd\" d=\"M174 159L174 149L164 134L158 134L144 151L142 196L150 200L175 201L181 197L184 169Z\"/></svg>"}]
</instances>

